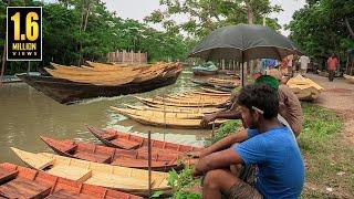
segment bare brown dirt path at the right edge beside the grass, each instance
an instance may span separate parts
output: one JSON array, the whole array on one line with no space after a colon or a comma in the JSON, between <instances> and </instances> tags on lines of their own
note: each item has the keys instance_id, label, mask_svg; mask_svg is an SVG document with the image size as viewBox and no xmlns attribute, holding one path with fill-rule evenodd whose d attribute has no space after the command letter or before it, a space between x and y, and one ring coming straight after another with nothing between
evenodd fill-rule
<instances>
[{"instance_id":1,"label":"bare brown dirt path at the right edge beside the grass","mask_svg":"<svg viewBox=\"0 0 354 199\"><path fill-rule=\"evenodd\" d=\"M346 82L345 78L329 82L327 77L315 74L308 74L308 77L324 88L315 103L335 111L343 118L343 136L354 143L354 84Z\"/></svg>"}]
</instances>

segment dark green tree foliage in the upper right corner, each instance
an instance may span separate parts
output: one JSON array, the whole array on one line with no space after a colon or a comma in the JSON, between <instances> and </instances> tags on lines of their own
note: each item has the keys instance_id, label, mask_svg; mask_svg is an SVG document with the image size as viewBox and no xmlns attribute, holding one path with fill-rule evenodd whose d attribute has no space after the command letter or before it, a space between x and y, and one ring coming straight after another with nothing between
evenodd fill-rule
<instances>
[{"instance_id":1,"label":"dark green tree foliage in the upper right corner","mask_svg":"<svg viewBox=\"0 0 354 199\"><path fill-rule=\"evenodd\" d=\"M287 25L290 39L305 53L320 60L333 52L345 60L345 51L354 48L345 20L353 29L354 1L352 0L311 0L303 9L293 14Z\"/></svg>"}]
</instances>

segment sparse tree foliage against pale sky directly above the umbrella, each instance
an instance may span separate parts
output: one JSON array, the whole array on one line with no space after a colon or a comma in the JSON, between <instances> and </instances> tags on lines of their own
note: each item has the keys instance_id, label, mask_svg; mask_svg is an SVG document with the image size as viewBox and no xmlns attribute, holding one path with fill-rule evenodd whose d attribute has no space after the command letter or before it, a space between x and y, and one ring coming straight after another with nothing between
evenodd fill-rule
<instances>
[{"instance_id":1,"label":"sparse tree foliage against pale sky directly above the umbrella","mask_svg":"<svg viewBox=\"0 0 354 199\"><path fill-rule=\"evenodd\" d=\"M279 6L271 6L269 0L249 0L253 12L253 22L261 24L264 14L279 12ZM230 24L247 23L247 8L243 0L162 0L160 6L165 10L155 10L145 18L146 22L162 23L171 33L185 31L197 39L206 36L210 31ZM177 23L175 15L184 14L188 20ZM267 25L278 30L280 25L277 19L267 19Z\"/></svg>"}]
</instances>

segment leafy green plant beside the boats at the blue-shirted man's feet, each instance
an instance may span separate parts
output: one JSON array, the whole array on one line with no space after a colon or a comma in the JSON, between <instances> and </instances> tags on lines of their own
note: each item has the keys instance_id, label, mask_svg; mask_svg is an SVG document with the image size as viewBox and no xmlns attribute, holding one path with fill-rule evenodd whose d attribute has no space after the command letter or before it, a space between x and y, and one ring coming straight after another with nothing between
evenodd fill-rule
<instances>
[{"instance_id":1,"label":"leafy green plant beside the boats at the blue-shirted man's feet","mask_svg":"<svg viewBox=\"0 0 354 199\"><path fill-rule=\"evenodd\" d=\"M176 199L199 199L199 193L186 192L184 189L200 185L200 179L192 177L191 167L185 167L179 174L176 170L169 171L168 185L173 188L173 198Z\"/></svg>"}]
</instances>

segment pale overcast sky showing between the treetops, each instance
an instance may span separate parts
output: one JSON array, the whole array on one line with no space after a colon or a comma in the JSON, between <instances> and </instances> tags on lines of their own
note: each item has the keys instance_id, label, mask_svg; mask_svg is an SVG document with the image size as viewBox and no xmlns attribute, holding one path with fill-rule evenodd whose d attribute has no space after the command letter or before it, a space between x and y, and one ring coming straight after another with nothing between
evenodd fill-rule
<instances>
[{"instance_id":1,"label":"pale overcast sky showing between the treetops","mask_svg":"<svg viewBox=\"0 0 354 199\"><path fill-rule=\"evenodd\" d=\"M103 0L106 2L106 7L111 11L116 11L117 14L123 18L135 19L143 21L146 15L149 15L154 10L159 8L159 0ZM278 18L281 25L287 24L291 21L291 17L295 10L301 9L305 4L305 0L270 0L272 4L280 4L283 8L283 12L271 14L272 18ZM176 19L177 21L183 21ZM159 25L154 25L154 28L160 29ZM282 31L283 34L289 33Z\"/></svg>"}]
</instances>

